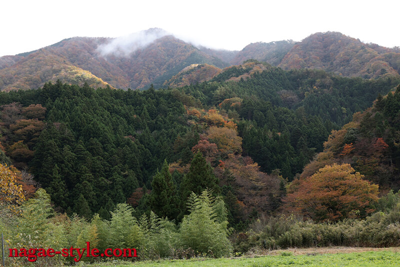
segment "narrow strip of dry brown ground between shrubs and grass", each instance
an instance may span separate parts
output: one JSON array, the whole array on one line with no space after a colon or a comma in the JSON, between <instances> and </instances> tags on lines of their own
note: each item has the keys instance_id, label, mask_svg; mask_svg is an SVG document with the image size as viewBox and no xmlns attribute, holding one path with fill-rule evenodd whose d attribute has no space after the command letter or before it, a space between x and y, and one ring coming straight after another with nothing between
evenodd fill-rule
<instances>
[{"instance_id":1,"label":"narrow strip of dry brown ground between shrubs and grass","mask_svg":"<svg viewBox=\"0 0 400 267\"><path fill-rule=\"evenodd\" d=\"M287 248L263 251L265 255L280 255L282 252L291 252L293 255L303 254L325 254L325 253L352 253L364 251L394 251L400 252L400 247L350 247L350 246L328 246L328 247L308 247L308 248Z\"/></svg>"}]
</instances>

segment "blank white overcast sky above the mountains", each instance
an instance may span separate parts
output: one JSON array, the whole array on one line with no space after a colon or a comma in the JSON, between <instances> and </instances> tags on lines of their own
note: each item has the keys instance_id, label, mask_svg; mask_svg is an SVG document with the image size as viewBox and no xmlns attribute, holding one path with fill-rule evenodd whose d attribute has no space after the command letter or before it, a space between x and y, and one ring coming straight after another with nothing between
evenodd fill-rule
<instances>
[{"instance_id":1,"label":"blank white overcast sky above the mountains","mask_svg":"<svg viewBox=\"0 0 400 267\"><path fill-rule=\"evenodd\" d=\"M0 56L62 39L119 37L157 27L210 48L301 41L335 31L365 43L400 46L400 1L45 1L0 2Z\"/></svg>"}]
</instances>

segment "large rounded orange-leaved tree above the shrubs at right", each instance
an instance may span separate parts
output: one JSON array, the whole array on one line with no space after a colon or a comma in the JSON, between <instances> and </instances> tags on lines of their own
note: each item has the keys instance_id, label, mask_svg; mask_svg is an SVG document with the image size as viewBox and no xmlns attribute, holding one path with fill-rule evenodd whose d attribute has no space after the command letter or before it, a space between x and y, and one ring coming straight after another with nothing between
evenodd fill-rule
<instances>
[{"instance_id":1,"label":"large rounded orange-leaved tree above the shrubs at right","mask_svg":"<svg viewBox=\"0 0 400 267\"><path fill-rule=\"evenodd\" d=\"M350 164L333 164L310 177L291 184L284 208L313 220L335 221L372 212L371 202L378 199L378 185L362 179Z\"/></svg>"}]
</instances>

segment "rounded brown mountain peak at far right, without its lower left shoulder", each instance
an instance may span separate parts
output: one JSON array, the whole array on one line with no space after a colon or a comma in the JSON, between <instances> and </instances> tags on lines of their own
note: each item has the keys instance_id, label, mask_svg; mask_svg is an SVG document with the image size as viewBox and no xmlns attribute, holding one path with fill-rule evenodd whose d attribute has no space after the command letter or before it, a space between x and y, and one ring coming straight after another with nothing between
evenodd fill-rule
<instances>
[{"instance_id":1,"label":"rounded brown mountain peak at far right, without its lower left shoulder","mask_svg":"<svg viewBox=\"0 0 400 267\"><path fill-rule=\"evenodd\" d=\"M294 45L278 65L282 69L322 69L346 77L398 75L400 51L383 48L341 33L316 33Z\"/></svg>"}]
</instances>

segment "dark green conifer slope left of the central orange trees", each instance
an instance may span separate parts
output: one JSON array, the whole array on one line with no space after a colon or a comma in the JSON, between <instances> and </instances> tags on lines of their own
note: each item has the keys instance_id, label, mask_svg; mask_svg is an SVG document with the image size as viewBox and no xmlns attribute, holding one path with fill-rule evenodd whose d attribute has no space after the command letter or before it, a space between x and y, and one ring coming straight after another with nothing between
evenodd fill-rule
<instances>
[{"instance_id":1,"label":"dark green conifer slope left of the central orange trees","mask_svg":"<svg viewBox=\"0 0 400 267\"><path fill-rule=\"evenodd\" d=\"M153 89L138 93L56 83L2 93L1 99L20 103L2 109L3 115L14 114L2 139L14 164L27 165L57 206L87 216L126 201L139 185L149 187L162 161L176 158L169 149L174 138L188 130L181 102ZM46 111L44 123L22 116L22 107L31 103Z\"/></svg>"}]
</instances>

